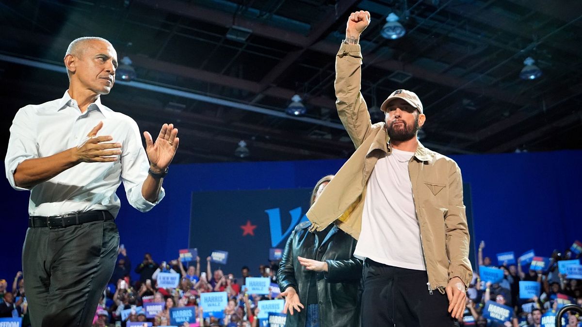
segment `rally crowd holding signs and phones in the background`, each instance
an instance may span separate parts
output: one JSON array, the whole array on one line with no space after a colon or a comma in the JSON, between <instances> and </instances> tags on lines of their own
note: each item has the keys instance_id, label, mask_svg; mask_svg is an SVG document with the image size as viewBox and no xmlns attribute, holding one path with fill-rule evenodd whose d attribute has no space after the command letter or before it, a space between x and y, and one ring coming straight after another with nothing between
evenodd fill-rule
<instances>
[{"instance_id":1,"label":"rally crowd holding signs and phones in the background","mask_svg":"<svg viewBox=\"0 0 582 327\"><path fill-rule=\"evenodd\" d=\"M493 266L489 257L482 255L485 244L481 243L478 252L478 266ZM527 265L500 265L503 269L502 282L492 284L482 282L477 271L473 282L467 289L466 310L462 326L533 326L541 325L542 315L546 312L557 312L560 307L558 294L568 298L574 304L582 306L582 283L577 279L569 279L558 271L558 261L580 258L570 250L563 253L554 251L551 255L551 266L546 272L527 269ZM278 282L278 262L272 261L258 267L257 277L270 278L271 282ZM150 254L144 255L144 260L137 266L132 266L127 250L120 248L117 265L109 285L101 298L93 326L126 326L127 322L151 322L152 326L171 325L169 309L173 307L194 307L197 315L196 323L184 323L183 326L258 326L258 301L282 298L280 294L264 296L249 294L242 289L245 279L250 277L250 269L243 266L240 273L224 273L221 269L212 270L211 258L206 259L205 271L201 271L200 258L190 261L188 265L179 259L157 263ZM474 267L477 270L477 267ZM139 275L132 280L132 271ZM157 287L156 277L159 272L180 273L180 283L175 289ZM541 285L541 294L529 299L520 298L519 281L534 281ZM30 326L27 319L27 301L24 289L22 272L17 272L12 285L8 288L5 279L0 279L0 318L23 317L23 326ZM204 317L200 306L200 294L205 292L227 292L228 305L224 308L223 318ZM486 301L495 301L498 304L512 307L512 318L501 324L487 319L482 315ZM147 318L144 303L165 303L164 310L155 317ZM122 319L122 311L130 310L129 315ZM577 312L570 312L567 326L582 326ZM116 325L117 323L117 325Z\"/></svg>"}]
</instances>

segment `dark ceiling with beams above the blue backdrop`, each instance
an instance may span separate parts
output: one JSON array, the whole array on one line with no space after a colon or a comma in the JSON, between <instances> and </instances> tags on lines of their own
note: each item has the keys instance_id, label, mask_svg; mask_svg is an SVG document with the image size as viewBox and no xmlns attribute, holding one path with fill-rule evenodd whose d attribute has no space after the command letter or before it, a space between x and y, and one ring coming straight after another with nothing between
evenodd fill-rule
<instances>
[{"instance_id":1,"label":"dark ceiling with beams above the blue backdrop","mask_svg":"<svg viewBox=\"0 0 582 327\"><path fill-rule=\"evenodd\" d=\"M76 0L0 2L3 150L18 108L66 90L54 68L69 42L95 35L132 59L141 86L118 83L102 101L142 130L174 122L175 162L346 158L353 145L335 112L333 62L360 9L372 16L360 42L364 98L372 107L397 88L416 92L428 147L582 148L580 0ZM407 29L399 40L379 33L391 12ZM231 40L232 26L250 35ZM519 78L528 56L539 79ZM282 114L294 94L307 119ZM234 155L240 140L244 159Z\"/></svg>"}]
</instances>

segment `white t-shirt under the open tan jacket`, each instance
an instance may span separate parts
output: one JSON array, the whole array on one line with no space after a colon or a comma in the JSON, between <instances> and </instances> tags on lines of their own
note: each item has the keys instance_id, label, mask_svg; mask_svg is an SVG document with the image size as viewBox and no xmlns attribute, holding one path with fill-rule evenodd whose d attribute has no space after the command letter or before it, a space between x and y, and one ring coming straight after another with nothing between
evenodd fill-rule
<instances>
[{"instance_id":1,"label":"white t-shirt under the open tan jacket","mask_svg":"<svg viewBox=\"0 0 582 327\"><path fill-rule=\"evenodd\" d=\"M414 152L392 148L378 159L364 200L362 228L354 251L360 259L426 270L414 210L408 163Z\"/></svg>"}]
</instances>

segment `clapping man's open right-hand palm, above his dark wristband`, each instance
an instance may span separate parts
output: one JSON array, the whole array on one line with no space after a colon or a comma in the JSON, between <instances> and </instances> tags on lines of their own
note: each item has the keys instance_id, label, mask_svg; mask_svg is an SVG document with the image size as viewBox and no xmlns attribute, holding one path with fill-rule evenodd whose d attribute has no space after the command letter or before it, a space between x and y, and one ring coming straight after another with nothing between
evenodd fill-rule
<instances>
[{"instance_id":1,"label":"clapping man's open right-hand palm, above his dark wristband","mask_svg":"<svg viewBox=\"0 0 582 327\"><path fill-rule=\"evenodd\" d=\"M178 150L180 139L176 137L177 135L178 129L174 128L173 124L164 124L154 143L151 134L144 131L145 153L147 153L147 157L150 159L152 168L160 172L168 168L176 154L176 150Z\"/></svg>"}]
</instances>

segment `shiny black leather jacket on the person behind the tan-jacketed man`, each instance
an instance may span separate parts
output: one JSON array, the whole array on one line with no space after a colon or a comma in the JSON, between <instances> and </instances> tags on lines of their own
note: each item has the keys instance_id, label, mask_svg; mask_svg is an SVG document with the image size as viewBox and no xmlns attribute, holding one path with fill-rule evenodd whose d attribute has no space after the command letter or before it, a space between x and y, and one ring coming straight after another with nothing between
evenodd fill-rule
<instances>
[{"instance_id":1,"label":"shiny black leather jacket on the person behind the tan-jacketed man","mask_svg":"<svg viewBox=\"0 0 582 327\"><path fill-rule=\"evenodd\" d=\"M311 271L299 264L297 257L326 261L328 272L317 273L317 297L322 327L360 326L358 287L362 261L354 258L356 240L333 225L323 240L308 231L310 222L303 222L293 230L283 251L277 272L281 292L293 287L305 306L301 312L287 314L286 326L304 327L307 311L307 291Z\"/></svg>"}]
</instances>

